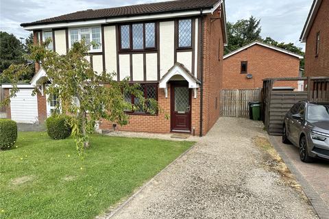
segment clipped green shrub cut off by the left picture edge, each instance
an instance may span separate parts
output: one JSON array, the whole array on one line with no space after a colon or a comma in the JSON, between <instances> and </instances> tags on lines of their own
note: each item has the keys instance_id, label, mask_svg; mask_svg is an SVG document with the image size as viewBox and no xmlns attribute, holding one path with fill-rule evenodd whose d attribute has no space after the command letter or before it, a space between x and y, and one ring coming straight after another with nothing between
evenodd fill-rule
<instances>
[{"instance_id":1,"label":"clipped green shrub cut off by the left picture edge","mask_svg":"<svg viewBox=\"0 0 329 219\"><path fill-rule=\"evenodd\" d=\"M0 119L0 149L9 149L17 140L17 124L10 119Z\"/></svg>"}]
</instances>

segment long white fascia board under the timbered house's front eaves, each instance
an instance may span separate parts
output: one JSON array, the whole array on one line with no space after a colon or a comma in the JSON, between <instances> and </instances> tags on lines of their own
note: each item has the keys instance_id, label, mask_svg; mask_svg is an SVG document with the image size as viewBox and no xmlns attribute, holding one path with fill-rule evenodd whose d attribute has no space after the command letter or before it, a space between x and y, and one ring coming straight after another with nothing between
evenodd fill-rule
<instances>
[{"instance_id":1,"label":"long white fascia board under the timbered house's front eaves","mask_svg":"<svg viewBox=\"0 0 329 219\"><path fill-rule=\"evenodd\" d=\"M215 6L214 6L215 8ZM204 10L202 11L203 14L212 13L214 10ZM193 16L200 14L199 11L186 11L186 12L174 12L174 13L164 13L164 14L153 14L153 15L143 15L143 16L125 16L119 18L104 18L104 19L97 19L93 21L75 21L75 22L64 22L64 23L53 23L47 25L34 25L24 27L25 30L34 30L34 29L51 29L51 28L59 28L59 27L79 27L79 26L88 26L88 25L101 25L105 23L122 23L122 22L130 22L130 21L143 21L143 20L151 20L151 19L158 19L158 18L173 18L173 17L180 17L180 16Z\"/></svg>"}]
</instances>

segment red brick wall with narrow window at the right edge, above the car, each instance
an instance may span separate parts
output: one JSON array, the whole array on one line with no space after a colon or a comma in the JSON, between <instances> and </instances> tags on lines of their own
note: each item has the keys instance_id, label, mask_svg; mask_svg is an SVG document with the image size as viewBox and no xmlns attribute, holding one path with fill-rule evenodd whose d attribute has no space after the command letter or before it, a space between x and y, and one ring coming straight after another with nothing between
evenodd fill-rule
<instances>
[{"instance_id":1,"label":"red brick wall with narrow window at the right edge, above the car","mask_svg":"<svg viewBox=\"0 0 329 219\"><path fill-rule=\"evenodd\" d=\"M329 77L329 0L322 0L306 38L305 75ZM317 32L320 32L319 55L315 57Z\"/></svg>"}]
</instances>

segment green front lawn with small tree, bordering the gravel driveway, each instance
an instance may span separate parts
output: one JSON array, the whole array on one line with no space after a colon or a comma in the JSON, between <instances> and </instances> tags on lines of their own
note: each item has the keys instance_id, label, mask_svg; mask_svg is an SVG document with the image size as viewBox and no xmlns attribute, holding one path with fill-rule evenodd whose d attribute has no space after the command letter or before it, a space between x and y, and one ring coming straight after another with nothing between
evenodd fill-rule
<instances>
[{"instance_id":1,"label":"green front lawn with small tree, bordering the gravel driveway","mask_svg":"<svg viewBox=\"0 0 329 219\"><path fill-rule=\"evenodd\" d=\"M14 149L0 151L0 218L94 218L194 144L100 135L90 143L81 159L71 138L19 133Z\"/></svg>"}]
</instances>

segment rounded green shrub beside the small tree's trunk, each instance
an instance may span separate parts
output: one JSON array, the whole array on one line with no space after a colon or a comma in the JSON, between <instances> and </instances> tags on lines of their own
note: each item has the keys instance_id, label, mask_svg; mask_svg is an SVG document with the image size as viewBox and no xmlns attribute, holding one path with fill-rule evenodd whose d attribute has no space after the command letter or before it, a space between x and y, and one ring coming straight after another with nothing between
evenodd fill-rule
<instances>
[{"instance_id":1,"label":"rounded green shrub beside the small tree's trunk","mask_svg":"<svg viewBox=\"0 0 329 219\"><path fill-rule=\"evenodd\" d=\"M71 127L68 123L69 119L69 116L64 115L50 116L47 118L46 125L48 136L55 140L71 136Z\"/></svg>"}]
</instances>

